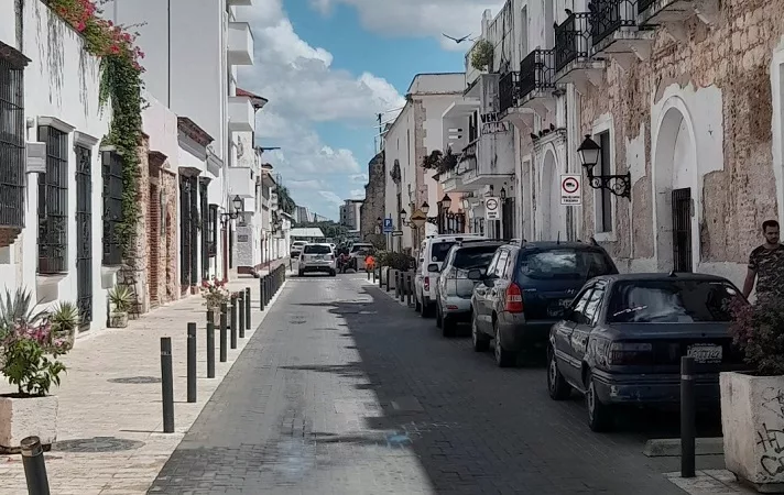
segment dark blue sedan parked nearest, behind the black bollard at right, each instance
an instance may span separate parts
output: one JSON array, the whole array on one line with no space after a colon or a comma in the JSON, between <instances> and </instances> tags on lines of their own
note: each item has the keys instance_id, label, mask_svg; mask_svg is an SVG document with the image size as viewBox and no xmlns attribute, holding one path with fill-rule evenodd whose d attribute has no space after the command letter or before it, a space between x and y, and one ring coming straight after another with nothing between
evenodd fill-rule
<instances>
[{"instance_id":1,"label":"dark blue sedan parked nearest, behind the black bollard at right","mask_svg":"<svg viewBox=\"0 0 784 495\"><path fill-rule=\"evenodd\" d=\"M551 330L549 396L584 394L588 426L603 431L617 405L679 404L680 358L689 355L698 404L718 407L719 372L743 369L729 333L730 302L740 294L726 278L703 274L590 280Z\"/></svg>"}]
</instances>

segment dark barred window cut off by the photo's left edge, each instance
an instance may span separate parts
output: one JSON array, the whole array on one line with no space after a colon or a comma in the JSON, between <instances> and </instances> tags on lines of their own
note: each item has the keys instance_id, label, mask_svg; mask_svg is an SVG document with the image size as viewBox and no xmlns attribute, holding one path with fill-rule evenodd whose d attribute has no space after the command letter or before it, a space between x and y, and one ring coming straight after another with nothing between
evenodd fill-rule
<instances>
[{"instance_id":1,"label":"dark barred window cut off by the photo's left edge","mask_svg":"<svg viewBox=\"0 0 784 495\"><path fill-rule=\"evenodd\" d=\"M0 226L24 227L22 69L0 57Z\"/></svg>"}]
</instances>

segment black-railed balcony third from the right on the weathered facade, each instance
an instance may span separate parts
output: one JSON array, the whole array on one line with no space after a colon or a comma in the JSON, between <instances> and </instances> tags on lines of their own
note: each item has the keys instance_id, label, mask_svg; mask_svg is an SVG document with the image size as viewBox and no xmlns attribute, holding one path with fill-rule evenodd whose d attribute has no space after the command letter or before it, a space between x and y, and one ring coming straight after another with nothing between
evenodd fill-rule
<instances>
[{"instance_id":1,"label":"black-railed balcony third from the right on the weathered facade","mask_svg":"<svg viewBox=\"0 0 784 495\"><path fill-rule=\"evenodd\" d=\"M606 65L591 54L591 16L589 12L573 12L555 26L554 82L574 84L586 92L588 85L598 86Z\"/></svg>"}]
</instances>

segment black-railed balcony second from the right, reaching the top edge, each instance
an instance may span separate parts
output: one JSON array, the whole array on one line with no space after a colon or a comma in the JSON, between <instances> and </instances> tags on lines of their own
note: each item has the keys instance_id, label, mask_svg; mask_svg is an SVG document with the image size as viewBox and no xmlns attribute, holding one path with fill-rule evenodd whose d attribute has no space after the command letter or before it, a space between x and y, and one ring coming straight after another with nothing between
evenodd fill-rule
<instances>
[{"instance_id":1,"label":"black-railed balcony second from the right, reaching the top edge","mask_svg":"<svg viewBox=\"0 0 784 495\"><path fill-rule=\"evenodd\" d=\"M595 0L591 3L591 55L612 58L624 70L635 59L651 57L654 29L639 28L639 0Z\"/></svg>"}]
</instances>

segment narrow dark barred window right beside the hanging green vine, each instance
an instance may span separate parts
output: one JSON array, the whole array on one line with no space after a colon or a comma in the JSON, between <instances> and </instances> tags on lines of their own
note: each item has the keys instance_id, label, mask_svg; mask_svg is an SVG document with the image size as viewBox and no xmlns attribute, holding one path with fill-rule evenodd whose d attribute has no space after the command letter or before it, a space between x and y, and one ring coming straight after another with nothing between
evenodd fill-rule
<instances>
[{"instance_id":1,"label":"narrow dark barred window right beside the hanging green vine","mask_svg":"<svg viewBox=\"0 0 784 495\"><path fill-rule=\"evenodd\" d=\"M104 165L104 257L106 266L122 263L118 226L122 221L122 160L112 151L102 153Z\"/></svg>"}]
</instances>

